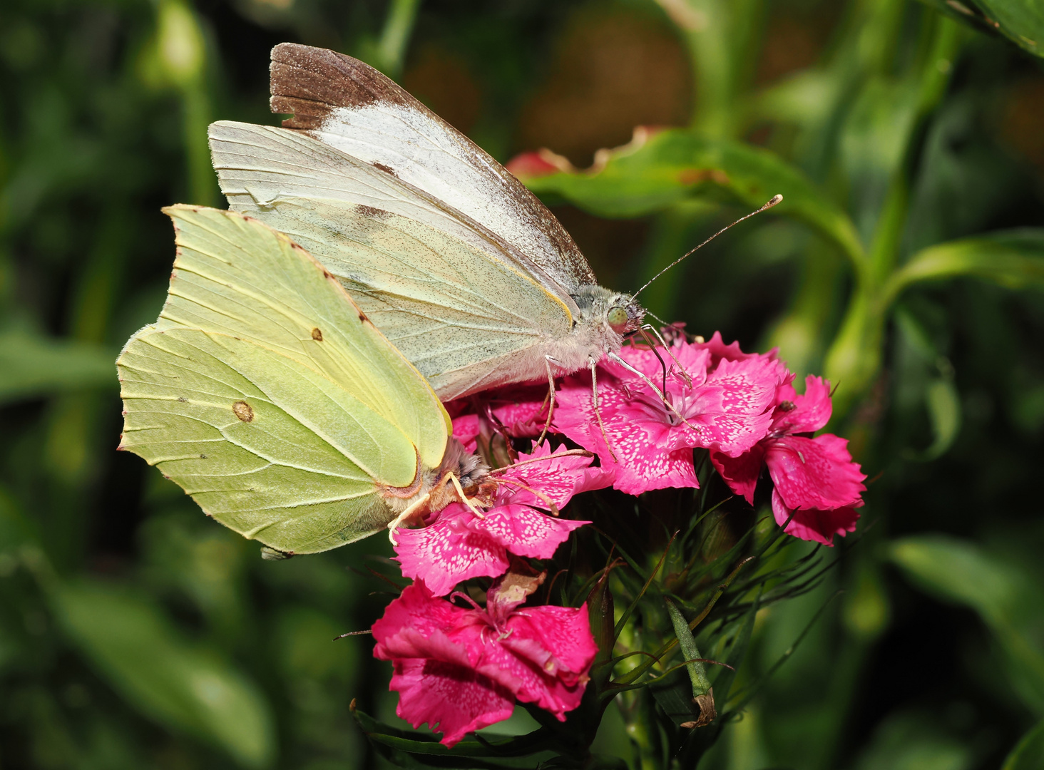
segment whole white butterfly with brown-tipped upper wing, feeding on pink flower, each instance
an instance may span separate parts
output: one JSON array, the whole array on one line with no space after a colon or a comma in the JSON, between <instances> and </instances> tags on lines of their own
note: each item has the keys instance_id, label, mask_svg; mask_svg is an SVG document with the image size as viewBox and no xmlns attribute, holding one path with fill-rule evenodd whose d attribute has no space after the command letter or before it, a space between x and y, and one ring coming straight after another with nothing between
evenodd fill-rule
<instances>
[{"instance_id":1,"label":"whole white butterfly with brown-tipped upper wing, feeding on pink flower","mask_svg":"<svg viewBox=\"0 0 1044 770\"><path fill-rule=\"evenodd\" d=\"M322 48L276 46L271 94L282 128L210 127L230 207L314 255L440 398L622 362L645 311L471 140Z\"/></svg>"}]
</instances>

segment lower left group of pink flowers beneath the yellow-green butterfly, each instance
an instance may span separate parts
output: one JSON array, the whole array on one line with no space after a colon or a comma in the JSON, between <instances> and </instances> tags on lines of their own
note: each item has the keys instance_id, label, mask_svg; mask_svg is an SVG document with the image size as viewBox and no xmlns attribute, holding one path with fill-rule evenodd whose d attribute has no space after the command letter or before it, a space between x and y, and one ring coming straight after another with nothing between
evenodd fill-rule
<instances>
[{"instance_id":1,"label":"lower left group of pink flowers beneath the yellow-green butterfly","mask_svg":"<svg viewBox=\"0 0 1044 770\"><path fill-rule=\"evenodd\" d=\"M589 524L538 508L562 508L578 492L608 486L612 479L592 461L542 443L496 474L496 498L482 518L453 503L425 527L397 533L402 573L414 582L374 625L374 654L393 661L397 713L414 727L437 725L442 742L452 746L509 717L516 700L560 720L579 705L598 651L587 605L519 609L543 581L519 557L550 558L570 532ZM451 599L472 608L443 598L474 577L498 578L484 608L465 594Z\"/></svg>"}]
</instances>

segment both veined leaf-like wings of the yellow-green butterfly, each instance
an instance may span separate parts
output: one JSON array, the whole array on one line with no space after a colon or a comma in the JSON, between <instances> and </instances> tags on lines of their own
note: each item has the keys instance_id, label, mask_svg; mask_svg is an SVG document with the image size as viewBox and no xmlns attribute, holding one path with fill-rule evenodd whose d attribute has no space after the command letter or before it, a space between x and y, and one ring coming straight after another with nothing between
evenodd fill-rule
<instances>
[{"instance_id":1,"label":"both veined leaf-like wings of the yellow-green butterfly","mask_svg":"<svg viewBox=\"0 0 1044 770\"><path fill-rule=\"evenodd\" d=\"M286 236L232 212L167 211L167 303L117 361L122 448L279 551L383 527L378 488L409 488L442 461L448 417L430 386Z\"/></svg>"}]
</instances>

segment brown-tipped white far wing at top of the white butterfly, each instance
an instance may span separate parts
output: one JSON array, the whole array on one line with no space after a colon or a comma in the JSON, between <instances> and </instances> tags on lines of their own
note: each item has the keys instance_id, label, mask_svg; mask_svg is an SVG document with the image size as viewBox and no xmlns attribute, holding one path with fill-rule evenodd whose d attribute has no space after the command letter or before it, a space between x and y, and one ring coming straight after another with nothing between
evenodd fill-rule
<instances>
[{"instance_id":1,"label":"brown-tipped white far wing at top of the white butterfly","mask_svg":"<svg viewBox=\"0 0 1044 770\"><path fill-rule=\"evenodd\" d=\"M271 51L271 110L302 130L396 175L496 233L533 272L572 294L596 283L547 208L474 142L358 59L282 43Z\"/></svg>"}]
</instances>

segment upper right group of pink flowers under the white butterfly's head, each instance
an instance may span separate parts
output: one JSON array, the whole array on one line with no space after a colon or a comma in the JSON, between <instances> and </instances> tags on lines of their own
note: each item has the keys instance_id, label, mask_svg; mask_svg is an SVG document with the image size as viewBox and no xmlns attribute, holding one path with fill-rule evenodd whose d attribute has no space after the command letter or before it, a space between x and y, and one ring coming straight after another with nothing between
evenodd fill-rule
<instances>
[{"instance_id":1,"label":"upper right group of pink flowers under the white butterfly's head","mask_svg":"<svg viewBox=\"0 0 1044 770\"><path fill-rule=\"evenodd\" d=\"M557 391L556 429L595 452L601 467L615 473L613 485L630 495L698 486L692 450L704 448L730 488L750 503L767 467L773 513L788 534L830 546L835 534L855 530L867 477L846 439L812 436L830 419L828 383L808 377L799 395L775 351L743 353L717 332L706 342L678 340L670 352L658 357L624 347L620 356L644 378L618 363L598 366L601 426L591 417L590 376L567 378ZM665 365L661 398L649 383L663 386Z\"/></svg>"}]
</instances>

